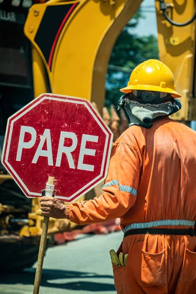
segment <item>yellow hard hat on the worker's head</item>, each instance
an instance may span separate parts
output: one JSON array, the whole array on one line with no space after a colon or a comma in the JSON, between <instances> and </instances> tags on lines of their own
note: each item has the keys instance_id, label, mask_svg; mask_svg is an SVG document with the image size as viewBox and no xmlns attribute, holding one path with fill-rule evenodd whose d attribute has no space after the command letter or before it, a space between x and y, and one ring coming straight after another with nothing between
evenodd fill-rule
<instances>
[{"instance_id":1,"label":"yellow hard hat on the worker's head","mask_svg":"<svg viewBox=\"0 0 196 294\"><path fill-rule=\"evenodd\" d=\"M175 91L172 71L157 59L139 64L131 73L127 87L120 91L130 93L132 90L156 91L170 93L174 98L181 97Z\"/></svg>"}]
</instances>

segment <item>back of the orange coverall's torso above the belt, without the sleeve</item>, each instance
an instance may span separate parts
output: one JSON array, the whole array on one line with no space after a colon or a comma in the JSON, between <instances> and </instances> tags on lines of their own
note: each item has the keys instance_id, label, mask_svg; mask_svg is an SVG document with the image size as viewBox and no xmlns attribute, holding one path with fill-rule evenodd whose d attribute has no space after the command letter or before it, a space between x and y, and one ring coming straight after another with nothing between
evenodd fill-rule
<instances>
[{"instance_id":1,"label":"back of the orange coverall's torso above the belt, without the sleeve","mask_svg":"<svg viewBox=\"0 0 196 294\"><path fill-rule=\"evenodd\" d=\"M125 215L129 223L195 221L196 132L162 118L150 129L131 126L118 140L122 141L137 148L142 158L137 199ZM168 227L172 222L160 225ZM182 225L186 228L186 222Z\"/></svg>"}]
</instances>

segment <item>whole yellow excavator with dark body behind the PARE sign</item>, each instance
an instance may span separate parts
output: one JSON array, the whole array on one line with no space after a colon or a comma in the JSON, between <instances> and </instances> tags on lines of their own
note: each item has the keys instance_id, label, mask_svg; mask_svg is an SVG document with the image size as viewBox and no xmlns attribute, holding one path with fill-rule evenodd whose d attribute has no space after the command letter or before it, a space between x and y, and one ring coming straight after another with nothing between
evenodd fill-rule
<instances>
[{"instance_id":1,"label":"whole yellow excavator with dark body behind the PARE sign","mask_svg":"<svg viewBox=\"0 0 196 294\"><path fill-rule=\"evenodd\" d=\"M111 51L141 3L0 0L0 150L7 118L42 93L86 98L102 112ZM189 123L196 120L195 1L155 0L155 8L159 57L182 94L182 110L173 118ZM119 124L125 125L114 112L113 120L107 113L105 121L115 138ZM98 194L101 186L96 189ZM32 266L42 222L39 200L26 198L0 165L0 270ZM50 219L49 236L73 228L67 220Z\"/></svg>"}]
</instances>

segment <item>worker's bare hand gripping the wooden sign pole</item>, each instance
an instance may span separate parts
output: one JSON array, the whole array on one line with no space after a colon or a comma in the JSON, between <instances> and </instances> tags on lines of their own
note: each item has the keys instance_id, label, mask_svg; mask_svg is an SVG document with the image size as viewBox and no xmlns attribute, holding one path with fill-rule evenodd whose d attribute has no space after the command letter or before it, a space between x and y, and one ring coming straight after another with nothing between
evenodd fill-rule
<instances>
[{"instance_id":1,"label":"worker's bare hand gripping the wooden sign pole","mask_svg":"<svg viewBox=\"0 0 196 294\"><path fill-rule=\"evenodd\" d=\"M66 205L60 200L43 196L40 199L42 215L54 219L66 219Z\"/></svg>"}]
</instances>

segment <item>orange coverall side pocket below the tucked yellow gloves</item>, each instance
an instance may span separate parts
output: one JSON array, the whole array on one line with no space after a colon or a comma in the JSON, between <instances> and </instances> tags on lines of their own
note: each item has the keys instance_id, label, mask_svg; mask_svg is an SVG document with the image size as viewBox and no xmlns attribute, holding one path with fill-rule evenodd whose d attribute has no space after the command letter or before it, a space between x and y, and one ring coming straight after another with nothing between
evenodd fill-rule
<instances>
[{"instance_id":1,"label":"orange coverall side pocket below the tucked yellow gloves","mask_svg":"<svg viewBox=\"0 0 196 294\"><path fill-rule=\"evenodd\" d=\"M114 273L114 285L117 294L125 294L126 281L125 281L125 267L120 267L112 264Z\"/></svg>"}]
</instances>

